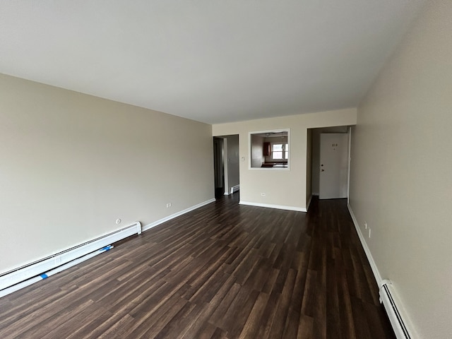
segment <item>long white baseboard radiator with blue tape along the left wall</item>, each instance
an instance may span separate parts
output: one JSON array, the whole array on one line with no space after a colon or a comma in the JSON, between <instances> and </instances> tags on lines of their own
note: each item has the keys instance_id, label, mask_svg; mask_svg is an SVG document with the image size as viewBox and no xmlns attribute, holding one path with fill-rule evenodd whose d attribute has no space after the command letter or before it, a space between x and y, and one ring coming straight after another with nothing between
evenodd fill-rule
<instances>
[{"instance_id":1,"label":"long white baseboard radiator with blue tape along the left wall","mask_svg":"<svg viewBox=\"0 0 452 339\"><path fill-rule=\"evenodd\" d=\"M121 230L116 230L52 256L47 256L14 270L1 273L0 297L9 295L32 283L48 278L50 275L61 272L61 270L93 258L97 254L108 251L113 248L111 244L133 234L141 234L141 222L137 221L130 226L121 228Z\"/></svg>"}]
</instances>

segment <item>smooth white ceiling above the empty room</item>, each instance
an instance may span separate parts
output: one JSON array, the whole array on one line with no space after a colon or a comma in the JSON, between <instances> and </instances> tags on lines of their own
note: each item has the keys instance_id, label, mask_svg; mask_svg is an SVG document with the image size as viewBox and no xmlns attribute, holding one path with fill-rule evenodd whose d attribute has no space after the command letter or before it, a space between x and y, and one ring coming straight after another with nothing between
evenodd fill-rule
<instances>
[{"instance_id":1,"label":"smooth white ceiling above the empty room","mask_svg":"<svg viewBox=\"0 0 452 339\"><path fill-rule=\"evenodd\" d=\"M356 107L425 0L0 0L0 73L210 124Z\"/></svg>"}]
</instances>

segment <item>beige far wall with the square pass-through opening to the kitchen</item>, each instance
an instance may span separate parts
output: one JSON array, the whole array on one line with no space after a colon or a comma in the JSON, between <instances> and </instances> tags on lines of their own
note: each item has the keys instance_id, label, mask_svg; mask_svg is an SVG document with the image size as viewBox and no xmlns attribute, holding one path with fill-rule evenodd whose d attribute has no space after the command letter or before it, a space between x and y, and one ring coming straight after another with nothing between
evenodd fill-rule
<instances>
[{"instance_id":1,"label":"beige far wall with the square pass-through opening to the kitchen","mask_svg":"<svg viewBox=\"0 0 452 339\"><path fill-rule=\"evenodd\" d=\"M256 119L212 126L213 136L239 134L240 200L304 209L307 202L307 129L356 124L356 109ZM290 129L290 170L249 169L249 132ZM266 193L266 196L261 196Z\"/></svg>"}]
</instances>

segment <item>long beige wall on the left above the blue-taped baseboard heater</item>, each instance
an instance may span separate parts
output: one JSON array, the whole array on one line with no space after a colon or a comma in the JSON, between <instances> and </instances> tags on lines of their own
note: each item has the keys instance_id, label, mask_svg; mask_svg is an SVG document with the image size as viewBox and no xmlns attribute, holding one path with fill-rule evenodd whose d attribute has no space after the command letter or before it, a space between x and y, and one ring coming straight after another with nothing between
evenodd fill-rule
<instances>
[{"instance_id":1,"label":"long beige wall on the left above the blue-taped baseboard heater","mask_svg":"<svg viewBox=\"0 0 452 339\"><path fill-rule=\"evenodd\" d=\"M4 272L213 198L211 126L0 75L0 192Z\"/></svg>"}]
</instances>

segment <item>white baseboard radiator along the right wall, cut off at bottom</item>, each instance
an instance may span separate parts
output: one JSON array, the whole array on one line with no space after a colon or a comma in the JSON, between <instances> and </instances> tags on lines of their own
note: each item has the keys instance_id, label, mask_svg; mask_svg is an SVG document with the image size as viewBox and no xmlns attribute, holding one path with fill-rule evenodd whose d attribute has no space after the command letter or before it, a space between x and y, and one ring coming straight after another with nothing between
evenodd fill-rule
<instances>
[{"instance_id":1,"label":"white baseboard radiator along the right wall, cut off at bottom","mask_svg":"<svg viewBox=\"0 0 452 339\"><path fill-rule=\"evenodd\" d=\"M380 284L380 302L383 304L388 314L389 321L393 326L397 339L411 339L407 326L400 315L400 311L393 298L393 285L390 280L382 280Z\"/></svg>"}]
</instances>

